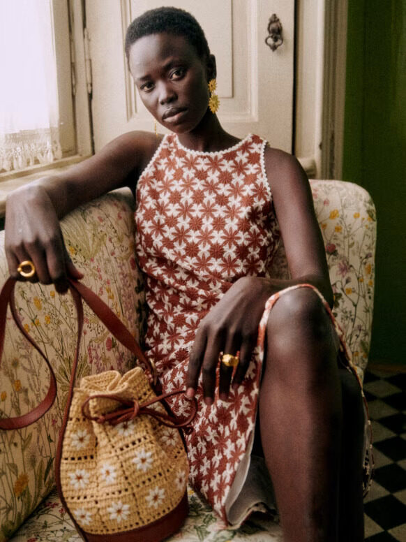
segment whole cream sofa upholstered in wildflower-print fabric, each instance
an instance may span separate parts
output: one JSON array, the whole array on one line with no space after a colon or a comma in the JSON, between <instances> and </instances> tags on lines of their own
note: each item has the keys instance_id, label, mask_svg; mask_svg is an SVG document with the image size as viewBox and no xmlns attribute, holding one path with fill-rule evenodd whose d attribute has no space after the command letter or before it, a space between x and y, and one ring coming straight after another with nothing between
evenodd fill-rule
<instances>
[{"instance_id":1,"label":"whole cream sofa upholstered in wildflower-print fabric","mask_svg":"<svg viewBox=\"0 0 406 542\"><path fill-rule=\"evenodd\" d=\"M368 360L373 311L375 207L368 193L352 183L317 180L311 186L336 298L333 312L345 330L362 378ZM130 192L116 191L75 210L63 219L63 234L73 261L86 274L84 282L136 336L142 336L144 291L134 259ZM2 240L0 250L3 251ZM283 245L273 260L271 272L276 277L288 276ZM6 277L6 258L2 256L1 283ZM80 536L54 492L53 474L74 351L73 302L69 295L56 295L52 286L24 283L17 287L17 307L24 326L52 362L58 398L37 423L23 430L0 432L0 542L79 542ZM129 353L85 307L78 378L110 368L124 372L131 363ZM18 416L38 404L45 396L47 382L45 362L9 321L0 368L0 416ZM282 540L276 522L260 516L254 516L237 531L225 531L220 520L189 491L189 518L173 540Z\"/></svg>"}]
</instances>

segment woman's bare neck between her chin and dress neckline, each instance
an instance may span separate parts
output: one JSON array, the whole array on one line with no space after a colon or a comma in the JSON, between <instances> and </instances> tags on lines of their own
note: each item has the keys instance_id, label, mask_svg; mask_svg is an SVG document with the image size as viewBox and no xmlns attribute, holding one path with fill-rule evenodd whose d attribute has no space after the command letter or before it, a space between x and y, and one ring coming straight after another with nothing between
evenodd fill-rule
<instances>
[{"instance_id":1,"label":"woman's bare neck between her chin and dress neckline","mask_svg":"<svg viewBox=\"0 0 406 542\"><path fill-rule=\"evenodd\" d=\"M195 129L178 134L178 139L183 147L201 152L222 151L239 142L239 138L223 129L217 115L213 115L209 110Z\"/></svg>"}]
</instances>

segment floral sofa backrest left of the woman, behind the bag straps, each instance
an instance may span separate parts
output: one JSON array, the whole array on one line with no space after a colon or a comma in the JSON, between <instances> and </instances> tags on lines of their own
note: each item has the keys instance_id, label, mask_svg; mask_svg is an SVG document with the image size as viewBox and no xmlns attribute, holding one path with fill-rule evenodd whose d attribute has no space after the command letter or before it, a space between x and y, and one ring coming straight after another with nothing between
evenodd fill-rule
<instances>
[{"instance_id":1,"label":"floral sofa backrest left of the woman, behind the bag straps","mask_svg":"<svg viewBox=\"0 0 406 542\"><path fill-rule=\"evenodd\" d=\"M144 298L134 259L130 193L112 193L78 209L63 221L63 233L73 260L79 268L86 268L84 282L134 335L139 335ZM3 284L8 274L4 256L0 258L0 274ZM55 448L75 351L76 318L70 295L57 295L53 286L21 283L16 301L24 327L52 363L58 397L37 423L18 431L0 431L1 542L54 488ZM120 372L129 369L133 361L130 353L87 307L84 316L77 377L110 368ZM45 362L9 321L0 368L0 416L18 416L38 404L45 397L48 374Z\"/></svg>"}]
</instances>

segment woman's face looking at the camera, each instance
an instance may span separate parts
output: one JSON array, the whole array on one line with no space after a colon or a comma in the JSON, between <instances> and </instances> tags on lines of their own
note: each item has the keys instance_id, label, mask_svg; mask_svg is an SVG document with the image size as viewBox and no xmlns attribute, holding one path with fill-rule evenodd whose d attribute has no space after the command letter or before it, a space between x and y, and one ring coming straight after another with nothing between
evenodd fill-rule
<instances>
[{"instance_id":1,"label":"woman's face looking at the camera","mask_svg":"<svg viewBox=\"0 0 406 542\"><path fill-rule=\"evenodd\" d=\"M160 124L176 133L193 130L208 111L207 66L183 36L151 34L129 52L141 99Z\"/></svg>"}]
</instances>

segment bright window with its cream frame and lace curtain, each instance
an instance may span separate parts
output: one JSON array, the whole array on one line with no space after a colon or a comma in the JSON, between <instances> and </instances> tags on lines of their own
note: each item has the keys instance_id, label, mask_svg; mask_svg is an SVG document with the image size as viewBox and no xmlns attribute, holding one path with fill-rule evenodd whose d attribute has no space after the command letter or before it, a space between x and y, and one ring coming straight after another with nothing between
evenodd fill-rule
<instances>
[{"instance_id":1,"label":"bright window with its cream frame and lace curtain","mask_svg":"<svg viewBox=\"0 0 406 542\"><path fill-rule=\"evenodd\" d=\"M72 15L68 0L0 0L0 179L81 150Z\"/></svg>"}]
</instances>

